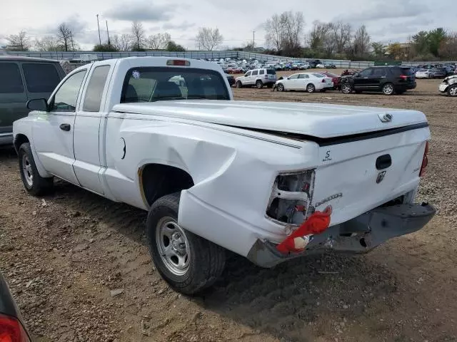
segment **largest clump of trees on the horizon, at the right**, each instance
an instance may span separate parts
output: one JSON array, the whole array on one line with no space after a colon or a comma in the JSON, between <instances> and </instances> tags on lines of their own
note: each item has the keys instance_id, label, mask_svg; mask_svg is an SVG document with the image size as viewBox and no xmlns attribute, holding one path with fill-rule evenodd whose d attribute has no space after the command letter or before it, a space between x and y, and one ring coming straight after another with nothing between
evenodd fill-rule
<instances>
[{"instance_id":1,"label":"largest clump of trees on the horizon, at the right","mask_svg":"<svg viewBox=\"0 0 457 342\"><path fill-rule=\"evenodd\" d=\"M457 58L457 33L443 28L420 31L406 42L373 41L366 26L344 21L313 21L305 31L302 12L274 14L265 23L268 53L335 59L404 59L433 61Z\"/></svg>"}]
</instances>

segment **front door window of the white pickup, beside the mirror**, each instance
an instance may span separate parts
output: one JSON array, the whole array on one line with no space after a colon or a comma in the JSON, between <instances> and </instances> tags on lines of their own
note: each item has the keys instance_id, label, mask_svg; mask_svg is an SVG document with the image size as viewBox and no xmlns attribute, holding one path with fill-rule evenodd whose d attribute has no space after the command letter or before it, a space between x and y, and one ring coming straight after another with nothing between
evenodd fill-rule
<instances>
[{"instance_id":1,"label":"front door window of the white pickup, beside the mirror","mask_svg":"<svg viewBox=\"0 0 457 342\"><path fill-rule=\"evenodd\" d=\"M66 112L74 112L76 110L76 100L78 100L79 90L86 71L81 70L66 79L51 100L51 110Z\"/></svg>"}]
</instances>

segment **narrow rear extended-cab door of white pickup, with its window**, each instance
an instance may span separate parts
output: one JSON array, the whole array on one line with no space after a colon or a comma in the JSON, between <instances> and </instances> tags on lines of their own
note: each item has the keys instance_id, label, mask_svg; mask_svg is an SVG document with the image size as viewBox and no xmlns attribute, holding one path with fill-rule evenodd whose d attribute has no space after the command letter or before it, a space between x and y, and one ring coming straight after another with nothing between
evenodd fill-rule
<instances>
[{"instance_id":1,"label":"narrow rear extended-cab door of white pickup, with its window","mask_svg":"<svg viewBox=\"0 0 457 342\"><path fill-rule=\"evenodd\" d=\"M99 172L101 170L99 130L106 99L106 80L111 76L111 66L92 68L81 96L74 122L74 173L81 187L104 195ZM102 109L103 110L103 109Z\"/></svg>"}]
</instances>

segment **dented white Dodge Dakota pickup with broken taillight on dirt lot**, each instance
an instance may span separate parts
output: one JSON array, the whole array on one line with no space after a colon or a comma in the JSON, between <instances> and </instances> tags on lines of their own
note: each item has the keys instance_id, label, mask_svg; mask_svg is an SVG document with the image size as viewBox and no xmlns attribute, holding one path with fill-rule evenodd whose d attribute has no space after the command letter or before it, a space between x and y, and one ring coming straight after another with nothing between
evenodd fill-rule
<instances>
[{"instance_id":1,"label":"dented white Dodge Dakota pickup with broken taillight on dirt lot","mask_svg":"<svg viewBox=\"0 0 457 342\"><path fill-rule=\"evenodd\" d=\"M185 294L214 283L227 249L263 267L368 252L435 214L414 203L430 139L418 111L235 101L215 63L161 57L81 66L28 108L14 122L26 190L59 177L148 210L151 257ZM322 212L318 234L278 248Z\"/></svg>"}]
</instances>

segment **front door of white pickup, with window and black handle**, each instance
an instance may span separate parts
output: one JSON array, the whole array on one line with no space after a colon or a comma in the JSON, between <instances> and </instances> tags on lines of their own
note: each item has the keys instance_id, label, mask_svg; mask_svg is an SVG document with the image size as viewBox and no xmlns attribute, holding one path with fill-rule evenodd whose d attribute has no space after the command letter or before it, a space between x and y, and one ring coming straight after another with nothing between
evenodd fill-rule
<instances>
[{"instance_id":1,"label":"front door of white pickup, with window and black handle","mask_svg":"<svg viewBox=\"0 0 457 342\"><path fill-rule=\"evenodd\" d=\"M34 121L32 135L39 160L53 175L79 185L73 170L73 132L76 103L81 97L87 68L70 74L51 95L49 112L41 112Z\"/></svg>"}]
</instances>

